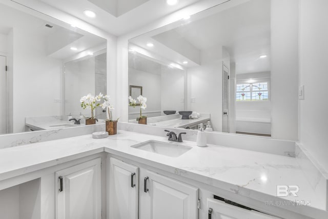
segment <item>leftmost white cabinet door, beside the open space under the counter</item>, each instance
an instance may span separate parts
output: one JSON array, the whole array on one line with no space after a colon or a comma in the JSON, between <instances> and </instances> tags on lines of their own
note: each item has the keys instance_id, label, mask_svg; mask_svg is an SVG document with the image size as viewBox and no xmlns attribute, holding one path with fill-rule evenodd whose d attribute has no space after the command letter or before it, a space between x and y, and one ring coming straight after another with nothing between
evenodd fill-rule
<instances>
[{"instance_id":1,"label":"leftmost white cabinet door, beside the open space under the counter","mask_svg":"<svg viewBox=\"0 0 328 219\"><path fill-rule=\"evenodd\" d=\"M56 218L101 218L101 160L55 173Z\"/></svg>"}]
</instances>

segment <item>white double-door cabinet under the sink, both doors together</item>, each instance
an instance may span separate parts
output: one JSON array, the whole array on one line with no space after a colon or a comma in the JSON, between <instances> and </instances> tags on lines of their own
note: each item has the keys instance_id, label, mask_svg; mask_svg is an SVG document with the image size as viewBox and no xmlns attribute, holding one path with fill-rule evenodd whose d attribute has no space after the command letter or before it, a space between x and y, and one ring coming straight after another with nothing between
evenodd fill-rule
<instances>
[{"instance_id":1,"label":"white double-door cabinet under the sink, both doors together","mask_svg":"<svg viewBox=\"0 0 328 219\"><path fill-rule=\"evenodd\" d=\"M196 219L198 188L110 158L110 219Z\"/></svg>"}]
</instances>

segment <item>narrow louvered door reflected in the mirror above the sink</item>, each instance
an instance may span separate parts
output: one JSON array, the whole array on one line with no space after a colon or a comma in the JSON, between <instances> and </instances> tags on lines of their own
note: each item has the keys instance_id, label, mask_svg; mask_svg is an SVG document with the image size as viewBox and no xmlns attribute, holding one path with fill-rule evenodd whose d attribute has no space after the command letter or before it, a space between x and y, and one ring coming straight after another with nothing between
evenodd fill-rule
<instances>
[{"instance_id":1,"label":"narrow louvered door reflected in the mirror above the sink","mask_svg":"<svg viewBox=\"0 0 328 219\"><path fill-rule=\"evenodd\" d=\"M222 132L229 132L229 68L222 66Z\"/></svg>"}]
</instances>

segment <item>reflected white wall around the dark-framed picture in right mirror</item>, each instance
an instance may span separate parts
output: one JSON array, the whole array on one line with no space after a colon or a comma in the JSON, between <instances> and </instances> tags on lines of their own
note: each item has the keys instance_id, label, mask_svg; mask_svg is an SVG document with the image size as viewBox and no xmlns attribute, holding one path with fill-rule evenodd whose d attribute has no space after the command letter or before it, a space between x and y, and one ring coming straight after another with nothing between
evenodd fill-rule
<instances>
[{"instance_id":1,"label":"reflected white wall around the dark-framed picture in right mirror","mask_svg":"<svg viewBox=\"0 0 328 219\"><path fill-rule=\"evenodd\" d=\"M129 68L129 87L130 85L141 86L142 96L147 97L147 108L142 110L142 115L149 117L160 115L161 109L161 73L150 73L145 71L139 71L133 68ZM126 96L126 103L128 104L128 96ZM159 111L157 113L148 114L146 112ZM135 108L129 107L129 120L133 120L139 116L140 106Z\"/></svg>"}]
</instances>

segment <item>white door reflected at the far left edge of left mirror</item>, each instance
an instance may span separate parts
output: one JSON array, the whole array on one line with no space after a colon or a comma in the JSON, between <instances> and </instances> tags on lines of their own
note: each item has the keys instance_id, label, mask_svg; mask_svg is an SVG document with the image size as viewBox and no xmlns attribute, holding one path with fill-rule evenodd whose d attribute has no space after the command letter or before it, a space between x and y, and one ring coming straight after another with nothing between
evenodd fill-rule
<instances>
[{"instance_id":1,"label":"white door reflected at the far left edge of left mirror","mask_svg":"<svg viewBox=\"0 0 328 219\"><path fill-rule=\"evenodd\" d=\"M6 56L0 55L0 99L2 101L2 104L0 104L0 134L6 133L6 74Z\"/></svg>"}]
</instances>

